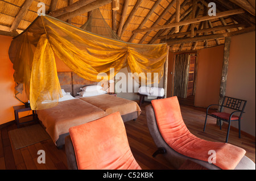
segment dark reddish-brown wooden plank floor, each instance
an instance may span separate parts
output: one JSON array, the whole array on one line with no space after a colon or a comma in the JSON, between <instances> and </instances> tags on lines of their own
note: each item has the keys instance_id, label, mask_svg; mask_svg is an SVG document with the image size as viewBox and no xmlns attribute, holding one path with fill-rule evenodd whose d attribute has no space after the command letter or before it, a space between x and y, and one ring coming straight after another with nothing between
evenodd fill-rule
<instances>
[{"instance_id":1,"label":"dark reddish-brown wooden plank floor","mask_svg":"<svg viewBox=\"0 0 256 181\"><path fill-rule=\"evenodd\" d=\"M144 107L147 103L142 104L141 116L137 121L128 121L125 123L127 137L129 140L131 151L142 169L166 170L174 169L170 163L164 159L163 155L157 155L155 158L152 154L157 149L147 128L146 115ZM189 131L208 141L224 142L226 137L226 125L220 130L214 119L208 119L206 131L203 132L205 109L193 108L191 106L181 106L181 112L185 124ZM12 124L0 130L0 169L1 170L23 170L23 169L48 169L48 170L65 170L67 160L65 155L65 147L58 150L52 140L46 140L26 148L15 150L10 141L8 131L16 129L16 125ZM255 138L251 138L242 134L242 138L238 138L236 130L230 130L229 143L239 146L246 150L246 156L255 162ZM46 152L46 163L39 164L38 150Z\"/></svg>"}]
</instances>

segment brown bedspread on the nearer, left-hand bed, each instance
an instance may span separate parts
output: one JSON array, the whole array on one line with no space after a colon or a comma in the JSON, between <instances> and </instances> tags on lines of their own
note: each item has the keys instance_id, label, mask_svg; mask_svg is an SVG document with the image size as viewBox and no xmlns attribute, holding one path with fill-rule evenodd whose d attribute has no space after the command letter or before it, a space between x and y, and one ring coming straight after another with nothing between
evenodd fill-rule
<instances>
[{"instance_id":1,"label":"brown bedspread on the nearer, left-hand bed","mask_svg":"<svg viewBox=\"0 0 256 181\"><path fill-rule=\"evenodd\" d=\"M108 115L100 108L80 99L59 102L56 107L38 110L37 113L39 120L42 121L55 144L59 135L68 133L70 127Z\"/></svg>"}]
</instances>

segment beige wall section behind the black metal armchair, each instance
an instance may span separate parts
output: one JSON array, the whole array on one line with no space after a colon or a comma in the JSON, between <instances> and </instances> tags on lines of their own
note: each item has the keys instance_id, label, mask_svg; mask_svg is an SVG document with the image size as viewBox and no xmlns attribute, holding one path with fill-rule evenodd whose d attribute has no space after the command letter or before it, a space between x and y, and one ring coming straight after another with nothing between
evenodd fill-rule
<instances>
[{"instance_id":1,"label":"beige wall section behind the black metal armchair","mask_svg":"<svg viewBox=\"0 0 256 181\"><path fill-rule=\"evenodd\" d=\"M233 36L226 95L247 100L241 129L255 136L255 32ZM238 128L238 124L233 123Z\"/></svg>"}]
</instances>

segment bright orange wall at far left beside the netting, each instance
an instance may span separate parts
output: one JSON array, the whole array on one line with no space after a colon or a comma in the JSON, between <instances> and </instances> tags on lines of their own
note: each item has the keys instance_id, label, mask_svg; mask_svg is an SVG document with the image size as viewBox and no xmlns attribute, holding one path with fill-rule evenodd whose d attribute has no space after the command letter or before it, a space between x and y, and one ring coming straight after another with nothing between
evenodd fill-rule
<instances>
[{"instance_id":1,"label":"bright orange wall at far left beside the netting","mask_svg":"<svg viewBox=\"0 0 256 181\"><path fill-rule=\"evenodd\" d=\"M0 125L14 120L13 106L22 105L14 95L13 64L8 55L12 37L0 35ZM23 112L26 116L30 112Z\"/></svg>"}]
</instances>

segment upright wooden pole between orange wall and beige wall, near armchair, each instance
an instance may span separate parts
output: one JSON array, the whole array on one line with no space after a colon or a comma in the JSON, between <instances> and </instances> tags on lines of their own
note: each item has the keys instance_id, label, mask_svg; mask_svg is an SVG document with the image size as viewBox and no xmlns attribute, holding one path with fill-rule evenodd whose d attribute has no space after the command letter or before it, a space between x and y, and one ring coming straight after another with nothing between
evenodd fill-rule
<instances>
[{"instance_id":1,"label":"upright wooden pole between orange wall and beige wall, near armchair","mask_svg":"<svg viewBox=\"0 0 256 181\"><path fill-rule=\"evenodd\" d=\"M218 99L219 105L221 105L224 99L224 96L226 94L226 78L228 77L230 44L231 44L231 37L228 36L225 38L225 45L224 45L224 58L223 58L223 64L222 64L220 95ZM218 111L221 111L220 107L218 108ZM222 121L217 120L216 124L220 125L222 124Z\"/></svg>"}]
</instances>

